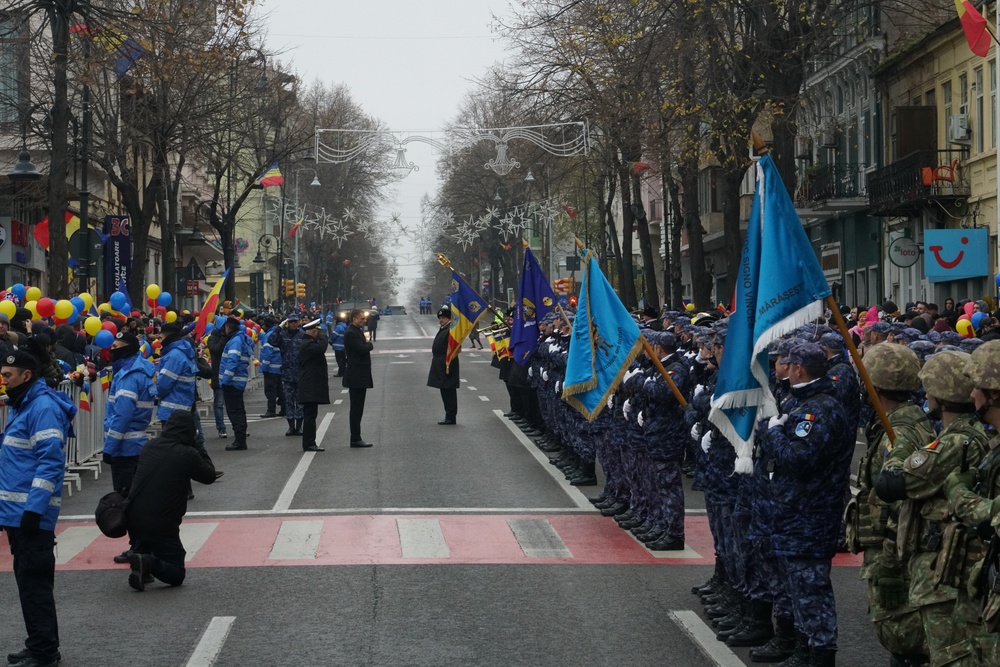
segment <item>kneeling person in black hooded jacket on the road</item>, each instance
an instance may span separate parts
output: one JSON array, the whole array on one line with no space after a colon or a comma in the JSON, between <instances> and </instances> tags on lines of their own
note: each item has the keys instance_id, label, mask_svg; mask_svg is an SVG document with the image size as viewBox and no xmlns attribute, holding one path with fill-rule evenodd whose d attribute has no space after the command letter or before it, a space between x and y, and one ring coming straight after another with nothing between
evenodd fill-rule
<instances>
[{"instance_id":1,"label":"kneeling person in black hooded jacket on the road","mask_svg":"<svg viewBox=\"0 0 1000 667\"><path fill-rule=\"evenodd\" d=\"M153 579L184 583L181 520L187 513L191 480L211 484L219 474L208 454L195 448L194 415L175 410L163 423L163 434L150 440L139 455L126 510L133 542L128 585L146 589Z\"/></svg>"}]
</instances>

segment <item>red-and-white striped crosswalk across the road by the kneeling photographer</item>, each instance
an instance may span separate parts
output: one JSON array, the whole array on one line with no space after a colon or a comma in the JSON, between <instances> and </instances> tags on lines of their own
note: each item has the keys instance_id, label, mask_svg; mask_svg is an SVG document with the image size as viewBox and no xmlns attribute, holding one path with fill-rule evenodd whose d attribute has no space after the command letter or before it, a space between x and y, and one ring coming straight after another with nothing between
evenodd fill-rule
<instances>
[{"instance_id":1,"label":"red-and-white striped crosswalk across the road by the kneeling photographer","mask_svg":"<svg viewBox=\"0 0 1000 667\"><path fill-rule=\"evenodd\" d=\"M196 519L181 527L188 567L362 564L687 564L714 562L708 522L688 517L686 549L650 552L609 518L595 515L338 515ZM61 570L120 569L125 540L92 523L56 530ZM858 565L839 556L835 565ZM0 571L10 571L9 550Z\"/></svg>"}]
</instances>

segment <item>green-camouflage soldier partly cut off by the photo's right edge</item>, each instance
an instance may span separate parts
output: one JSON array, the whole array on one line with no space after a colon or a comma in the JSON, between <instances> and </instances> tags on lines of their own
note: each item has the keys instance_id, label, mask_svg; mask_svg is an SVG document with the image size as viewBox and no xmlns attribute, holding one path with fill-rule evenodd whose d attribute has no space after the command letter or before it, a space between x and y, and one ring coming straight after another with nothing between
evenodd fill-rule
<instances>
[{"instance_id":1,"label":"green-camouflage soldier partly cut off by the photo's right edge","mask_svg":"<svg viewBox=\"0 0 1000 667\"><path fill-rule=\"evenodd\" d=\"M965 365L972 381L976 415L1000 429L1000 340L979 346ZM1000 436L994 432L989 453L977 468L957 469L944 484L955 517L987 540L985 558L970 573L982 624L970 627L969 642L981 665L1000 665ZM976 571L978 570L978 571Z\"/></svg>"}]
</instances>

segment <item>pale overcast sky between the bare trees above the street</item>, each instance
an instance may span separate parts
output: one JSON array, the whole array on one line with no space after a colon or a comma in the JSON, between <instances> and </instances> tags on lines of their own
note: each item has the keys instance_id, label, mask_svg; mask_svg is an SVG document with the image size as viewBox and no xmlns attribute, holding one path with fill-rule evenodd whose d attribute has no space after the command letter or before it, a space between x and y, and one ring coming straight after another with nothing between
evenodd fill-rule
<instances>
[{"instance_id":1,"label":"pale overcast sky between the bare trees above the street","mask_svg":"<svg viewBox=\"0 0 1000 667\"><path fill-rule=\"evenodd\" d=\"M507 0L264 0L268 50L310 84L345 84L367 113L394 130L439 130L453 120L473 80L504 59L491 30ZM410 144L420 170L396 186L383 216L415 229L421 197L436 191L436 156ZM400 264L415 262L397 250ZM403 277L416 268L401 266ZM401 290L405 296L405 288Z\"/></svg>"}]
</instances>

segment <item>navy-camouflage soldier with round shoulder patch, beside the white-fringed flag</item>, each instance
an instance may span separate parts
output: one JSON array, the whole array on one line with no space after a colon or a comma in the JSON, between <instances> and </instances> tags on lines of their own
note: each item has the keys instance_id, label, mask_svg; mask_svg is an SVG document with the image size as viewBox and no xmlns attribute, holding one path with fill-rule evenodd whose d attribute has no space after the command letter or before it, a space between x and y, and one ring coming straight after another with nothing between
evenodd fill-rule
<instances>
[{"instance_id":1,"label":"navy-camouflage soldier with round shoulder patch, beside the white-fringed flag","mask_svg":"<svg viewBox=\"0 0 1000 667\"><path fill-rule=\"evenodd\" d=\"M790 414L773 417L767 432L773 456L771 539L795 624L808 640L807 654L796 647L800 662L833 667L837 607L830 566L840 542L843 491L851 472L853 416L833 396L822 348L802 343L789 351L788 359L796 404Z\"/></svg>"}]
</instances>

